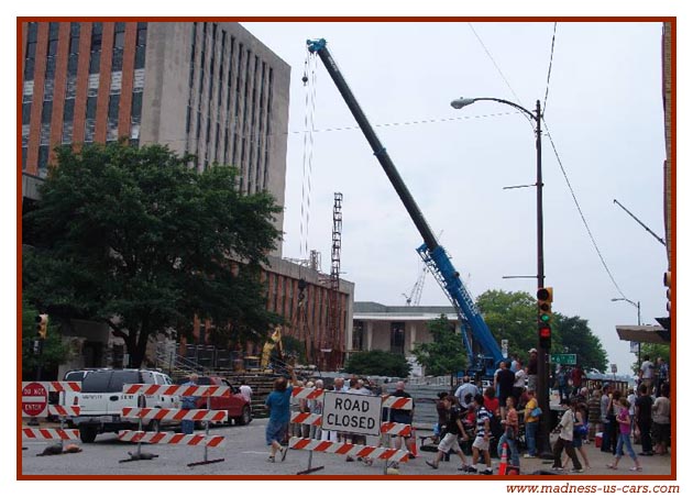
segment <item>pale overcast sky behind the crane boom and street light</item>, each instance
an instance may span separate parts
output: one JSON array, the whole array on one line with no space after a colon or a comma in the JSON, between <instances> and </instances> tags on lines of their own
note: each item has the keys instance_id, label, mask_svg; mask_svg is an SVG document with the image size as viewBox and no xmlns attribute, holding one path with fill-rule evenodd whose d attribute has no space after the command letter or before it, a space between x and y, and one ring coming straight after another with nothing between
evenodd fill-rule
<instances>
[{"instance_id":1,"label":"pale overcast sky behind the crane boom and street light","mask_svg":"<svg viewBox=\"0 0 693 497\"><path fill-rule=\"evenodd\" d=\"M324 37L356 99L446 247L470 292L535 294L536 181L532 126L513 108L458 97L494 97L529 110L536 100L607 274L543 135L544 273L554 311L579 316L602 339L609 363L627 371L635 355L616 324L666 314L663 245L614 203L617 199L660 236L666 158L660 23L559 23L548 84L553 23L242 23L292 66L285 257L322 254L329 272L333 194L343 200L343 278L355 300L404 305L421 263L421 238L389 185L322 64L315 67L312 147L305 146L306 38ZM546 106L544 106L546 98ZM413 121L428 123L406 124ZM394 125L397 124L397 125ZM301 206L312 151L309 225ZM429 275L421 305L446 305Z\"/></svg>"}]
</instances>

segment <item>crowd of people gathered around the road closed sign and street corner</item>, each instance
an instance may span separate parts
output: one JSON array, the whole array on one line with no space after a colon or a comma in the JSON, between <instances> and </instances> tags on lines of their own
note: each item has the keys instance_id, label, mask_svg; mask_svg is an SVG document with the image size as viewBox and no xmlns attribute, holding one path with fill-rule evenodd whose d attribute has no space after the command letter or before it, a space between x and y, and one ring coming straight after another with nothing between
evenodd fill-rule
<instances>
[{"instance_id":1,"label":"crowd of people gathered around the road closed sign and street corner","mask_svg":"<svg viewBox=\"0 0 693 497\"><path fill-rule=\"evenodd\" d=\"M559 367L556 371L553 385L559 390L560 404L564 410L554 429L557 438L553 444L553 471L570 468L573 473L582 473L590 468L588 453L584 445L597 445L598 442L602 452L614 455L613 462L607 466L613 470L618 467L625 453L632 460L630 470L634 472L642 471L641 457L669 453L671 404L668 367L661 358L658 358L657 366L647 355L644 358L637 388L629 389L627 395L622 395L622 391L608 383L590 393L586 375L580 367ZM292 402L293 386L304 386L296 379L293 371L292 376L292 385L288 385L286 378L277 378L275 391L267 398L266 404L271 411L267 426L270 461L275 461L277 452L282 459L285 457L283 443L286 443L289 434L365 444L364 435L322 431L319 427L305 424L289 427L292 410L322 413L320 398ZM492 453L498 456L504 446L507 448L512 466L519 466L521 449L526 449L522 457L537 457L538 428L541 418L549 413L539 408L536 385L537 351L531 349L527 366L517 356L502 361L493 385L486 388L482 388L481 382L474 383L472 378L464 376L453 395L441 391L437 401L438 423L433 427L437 453L432 461L426 463L437 470L443 457L449 459L451 454L455 454L460 457L460 471L492 474ZM307 382L305 386L323 388L321 379ZM338 377L329 389L358 395L383 393L376 383L355 376L349 379ZM405 390L404 382L397 383L393 395L411 397ZM411 424L414 419L414 409L384 411L383 421ZM380 443L391 442L381 440ZM393 437L392 444L398 450L404 446L409 452L409 457L415 457L416 440L413 437ZM472 453L471 462L462 449L465 444L466 452L471 450ZM636 453L634 444L641 445L639 453ZM346 461L353 459L348 456ZM363 459L363 462L372 463L367 459Z\"/></svg>"}]
</instances>

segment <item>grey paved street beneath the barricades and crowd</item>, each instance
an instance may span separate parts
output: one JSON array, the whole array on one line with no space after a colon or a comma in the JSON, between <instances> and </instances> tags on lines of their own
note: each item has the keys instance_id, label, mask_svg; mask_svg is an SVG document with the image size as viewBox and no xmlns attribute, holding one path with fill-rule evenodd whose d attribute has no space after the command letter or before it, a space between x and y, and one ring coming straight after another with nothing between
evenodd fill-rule
<instances>
[{"instance_id":1,"label":"grey paved street beneath the barricades and crowd","mask_svg":"<svg viewBox=\"0 0 693 497\"><path fill-rule=\"evenodd\" d=\"M283 463L266 462L267 449L264 444L264 430L266 419L253 420L246 427L223 427L210 430L211 434L227 437L226 445L217 449L209 449L208 459L216 460L223 457L224 461L215 464L188 467L189 463L204 460L204 448L189 448L182 445L145 445L143 452L157 454L158 457L151 461L138 461L119 463L120 460L128 459L128 452L135 452L136 444L120 442L116 434L101 434L96 443L80 444L84 452L77 454L65 454L55 456L37 457L47 442L24 441L26 448L22 452L22 473L24 475L295 475L299 471L308 467L309 453L306 451L289 451L286 461ZM200 433L200 431L197 431ZM374 439L369 438L369 443ZM606 464L612 461L610 454L602 453L594 445L586 445L587 455L591 460L592 468L586 470L584 475L614 475L635 476L628 468L632 466L628 457L622 460L618 471L606 468ZM636 451L639 445L635 446ZM426 459L432 459L433 453L420 452L419 457L400 465L403 475L458 475L468 476L457 468L459 459L451 457L451 461L441 462L440 468L433 471L426 465ZM494 460L494 467L498 461ZM522 473L531 473L537 470L549 470L550 464L543 461L521 459ZM641 464L645 467L642 475L669 475L671 474L671 460L669 456L642 457ZM348 463L344 456L314 453L312 466L324 466L323 470L315 473L317 475L382 475L383 462L376 462L372 467L365 464L353 462ZM574 475L568 473L566 478Z\"/></svg>"}]
</instances>

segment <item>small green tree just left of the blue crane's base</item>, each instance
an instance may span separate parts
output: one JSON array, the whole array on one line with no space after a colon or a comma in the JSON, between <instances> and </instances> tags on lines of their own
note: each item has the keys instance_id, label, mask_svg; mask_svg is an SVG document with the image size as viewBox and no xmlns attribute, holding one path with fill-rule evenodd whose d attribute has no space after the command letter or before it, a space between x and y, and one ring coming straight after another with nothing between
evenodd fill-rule
<instances>
[{"instance_id":1,"label":"small green tree just left of the blue crane's base","mask_svg":"<svg viewBox=\"0 0 693 497\"><path fill-rule=\"evenodd\" d=\"M417 343L413 351L418 363L426 368L426 374L443 376L464 371L468 365L466 350L448 318L441 314L429 321L428 331L433 341Z\"/></svg>"}]
</instances>

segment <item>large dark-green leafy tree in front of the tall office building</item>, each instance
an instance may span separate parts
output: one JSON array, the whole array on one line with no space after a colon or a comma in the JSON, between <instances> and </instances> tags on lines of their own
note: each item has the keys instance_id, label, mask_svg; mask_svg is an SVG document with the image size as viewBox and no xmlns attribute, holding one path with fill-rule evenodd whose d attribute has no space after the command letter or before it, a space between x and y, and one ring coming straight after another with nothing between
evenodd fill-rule
<instances>
[{"instance_id":1,"label":"large dark-green leafy tree in front of the tall office building","mask_svg":"<svg viewBox=\"0 0 693 497\"><path fill-rule=\"evenodd\" d=\"M279 322L258 277L279 240L270 194L242 196L235 168L198 173L161 145L56 155L23 219L35 244L23 254L23 290L38 308L107 323L133 366L150 336L189 333L195 316L237 341L262 342Z\"/></svg>"}]
</instances>

